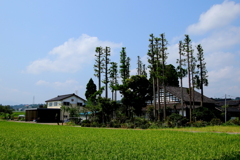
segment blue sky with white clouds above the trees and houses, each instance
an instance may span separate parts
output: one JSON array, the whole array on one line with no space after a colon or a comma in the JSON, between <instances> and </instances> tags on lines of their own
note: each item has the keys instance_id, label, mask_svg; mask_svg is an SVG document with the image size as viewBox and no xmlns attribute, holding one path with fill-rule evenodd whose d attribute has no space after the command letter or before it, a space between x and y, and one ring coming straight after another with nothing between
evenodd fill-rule
<instances>
[{"instance_id":1,"label":"blue sky with white clouds above the trees and houses","mask_svg":"<svg viewBox=\"0 0 240 160\"><path fill-rule=\"evenodd\" d=\"M85 98L89 79L97 84L97 46L110 46L118 63L126 47L134 75L137 56L147 64L151 33L165 33L173 65L179 40L189 34L205 52L205 95L240 96L239 0L2 0L0 20L0 104L29 104L33 96L44 103L76 91Z\"/></svg>"}]
</instances>

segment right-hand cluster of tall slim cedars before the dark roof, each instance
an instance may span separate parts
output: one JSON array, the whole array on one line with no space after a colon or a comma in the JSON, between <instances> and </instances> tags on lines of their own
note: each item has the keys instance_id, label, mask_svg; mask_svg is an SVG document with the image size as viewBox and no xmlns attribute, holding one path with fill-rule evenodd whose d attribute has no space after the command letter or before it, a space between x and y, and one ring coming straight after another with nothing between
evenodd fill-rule
<instances>
[{"instance_id":1,"label":"right-hand cluster of tall slim cedars before the dark roof","mask_svg":"<svg viewBox=\"0 0 240 160\"><path fill-rule=\"evenodd\" d=\"M188 76L190 122L192 121L192 110L195 109L194 89L197 88L201 90L200 105L203 106L203 86L208 85L206 62L204 61L204 52L201 44L197 45L196 49L197 55L195 56L189 35L185 35L184 42L179 41L179 59L177 59L179 65L177 69L181 87L181 107L183 114L184 99L182 79L183 77Z\"/></svg>"}]
</instances>

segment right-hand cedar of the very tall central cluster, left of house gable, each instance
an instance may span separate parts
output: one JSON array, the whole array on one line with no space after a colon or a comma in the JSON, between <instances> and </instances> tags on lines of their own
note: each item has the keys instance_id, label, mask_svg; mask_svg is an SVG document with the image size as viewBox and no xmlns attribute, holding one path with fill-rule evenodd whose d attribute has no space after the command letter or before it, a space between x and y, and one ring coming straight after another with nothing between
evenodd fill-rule
<instances>
[{"instance_id":1,"label":"right-hand cedar of the very tall central cluster, left of house gable","mask_svg":"<svg viewBox=\"0 0 240 160\"><path fill-rule=\"evenodd\" d=\"M160 41L161 41L161 62L162 62L162 79L163 79L163 101L164 101L164 106L163 106L163 120L166 120L166 59L167 59L167 45L168 45L168 41L165 38L165 34L162 33L160 35Z\"/></svg>"}]
</instances>

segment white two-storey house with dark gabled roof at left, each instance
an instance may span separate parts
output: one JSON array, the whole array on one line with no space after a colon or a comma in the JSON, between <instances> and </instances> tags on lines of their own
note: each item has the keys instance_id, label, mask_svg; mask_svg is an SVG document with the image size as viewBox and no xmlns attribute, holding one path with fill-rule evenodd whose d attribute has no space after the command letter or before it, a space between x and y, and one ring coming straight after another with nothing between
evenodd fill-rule
<instances>
[{"instance_id":1,"label":"white two-storey house with dark gabled roof at left","mask_svg":"<svg viewBox=\"0 0 240 160\"><path fill-rule=\"evenodd\" d=\"M61 109L62 106L83 107L85 106L86 100L73 93L73 94L59 95L45 102L47 103L48 109ZM64 119L68 119L68 118L69 118L69 113L63 113L63 111L61 111L60 120L63 121Z\"/></svg>"}]
</instances>

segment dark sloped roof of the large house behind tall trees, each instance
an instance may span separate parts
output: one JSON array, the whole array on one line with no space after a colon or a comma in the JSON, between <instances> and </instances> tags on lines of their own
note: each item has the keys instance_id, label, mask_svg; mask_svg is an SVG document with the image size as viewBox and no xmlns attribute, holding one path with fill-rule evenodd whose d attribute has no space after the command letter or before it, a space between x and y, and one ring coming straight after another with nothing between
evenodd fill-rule
<instances>
[{"instance_id":1,"label":"dark sloped roof of the large house behind tall trees","mask_svg":"<svg viewBox=\"0 0 240 160\"><path fill-rule=\"evenodd\" d=\"M183 101L189 101L189 94L188 94L188 88L183 87ZM181 87L170 87L166 86L166 91L170 92L174 96L181 99ZM194 101L195 102L201 102L201 94L194 90ZM213 99L210 99L203 95L203 103L215 103Z\"/></svg>"}]
</instances>

